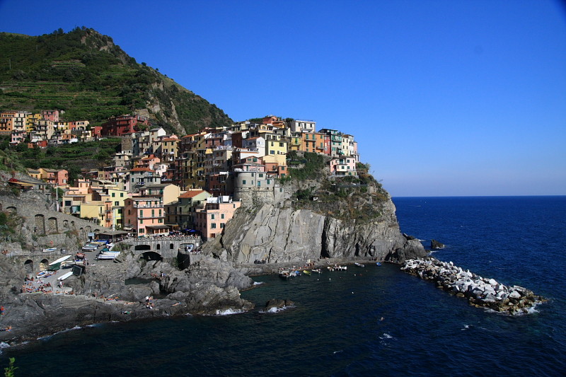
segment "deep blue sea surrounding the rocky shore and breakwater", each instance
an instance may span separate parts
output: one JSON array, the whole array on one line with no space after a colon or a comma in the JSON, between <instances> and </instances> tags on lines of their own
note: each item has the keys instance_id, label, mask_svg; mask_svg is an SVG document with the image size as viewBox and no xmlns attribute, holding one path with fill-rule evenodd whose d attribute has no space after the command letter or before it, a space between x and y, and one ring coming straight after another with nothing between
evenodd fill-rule
<instances>
[{"instance_id":1,"label":"deep blue sea surrounding the rocky shore and breakwater","mask_svg":"<svg viewBox=\"0 0 566 377\"><path fill-rule=\"evenodd\" d=\"M110 323L2 350L17 376L564 376L566 197L394 198L401 230L440 260L541 294L536 312L468 306L397 265L284 281L257 277L258 309ZM261 313L269 298L295 308ZM383 319L382 319L383 318Z\"/></svg>"}]
</instances>

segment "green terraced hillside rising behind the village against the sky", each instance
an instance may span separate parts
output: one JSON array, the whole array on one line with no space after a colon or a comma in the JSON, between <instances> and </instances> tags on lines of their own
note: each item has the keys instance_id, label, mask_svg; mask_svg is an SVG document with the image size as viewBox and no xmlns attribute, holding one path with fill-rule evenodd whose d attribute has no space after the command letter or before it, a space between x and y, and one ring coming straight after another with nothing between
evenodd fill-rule
<instances>
[{"instance_id":1,"label":"green terraced hillside rising behind the village against the sky","mask_svg":"<svg viewBox=\"0 0 566 377\"><path fill-rule=\"evenodd\" d=\"M216 105L138 64L93 29L37 37L0 33L0 51L0 110L59 109L63 120L94 125L139 112L180 134L232 122Z\"/></svg>"}]
</instances>

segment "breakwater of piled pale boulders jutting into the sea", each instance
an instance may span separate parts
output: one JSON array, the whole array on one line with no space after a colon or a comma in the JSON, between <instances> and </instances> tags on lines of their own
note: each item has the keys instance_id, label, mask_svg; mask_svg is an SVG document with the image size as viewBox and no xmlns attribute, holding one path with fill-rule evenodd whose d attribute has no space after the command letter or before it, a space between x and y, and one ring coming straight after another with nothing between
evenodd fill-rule
<instances>
[{"instance_id":1,"label":"breakwater of piled pale boulders jutting into the sea","mask_svg":"<svg viewBox=\"0 0 566 377\"><path fill-rule=\"evenodd\" d=\"M480 277L469 269L463 270L453 262L442 262L432 257L410 259L401 269L425 280L432 280L437 287L468 298L470 305L477 308L490 308L509 314L528 313L536 303L546 301L521 286L505 286Z\"/></svg>"}]
</instances>

